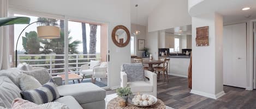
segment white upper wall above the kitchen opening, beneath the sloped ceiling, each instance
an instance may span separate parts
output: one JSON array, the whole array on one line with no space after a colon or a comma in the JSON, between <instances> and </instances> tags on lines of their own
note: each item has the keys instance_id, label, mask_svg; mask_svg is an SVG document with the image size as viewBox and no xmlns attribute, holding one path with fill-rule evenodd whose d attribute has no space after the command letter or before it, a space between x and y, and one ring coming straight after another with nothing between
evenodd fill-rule
<instances>
[{"instance_id":1,"label":"white upper wall above the kitchen opening, beneath the sloped ceiling","mask_svg":"<svg viewBox=\"0 0 256 109\"><path fill-rule=\"evenodd\" d=\"M188 0L163 0L148 15L148 31L157 31L191 24Z\"/></svg>"}]
</instances>

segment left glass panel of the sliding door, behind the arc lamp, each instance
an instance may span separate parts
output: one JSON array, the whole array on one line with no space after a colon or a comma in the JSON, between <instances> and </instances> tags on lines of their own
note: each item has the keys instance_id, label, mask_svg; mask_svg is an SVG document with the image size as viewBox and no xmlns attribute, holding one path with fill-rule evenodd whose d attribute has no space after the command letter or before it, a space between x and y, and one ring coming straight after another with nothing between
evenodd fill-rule
<instances>
[{"instance_id":1,"label":"left glass panel of the sliding door, behind the arc lamp","mask_svg":"<svg viewBox=\"0 0 256 109\"><path fill-rule=\"evenodd\" d=\"M64 73L64 34L61 34L60 39L39 39L37 36L37 27L39 25L54 25L61 28L61 33L64 32L64 21L57 18L41 17L34 15L11 14L10 16L25 16L31 18L29 25L21 34L17 43L17 63L26 62L33 67L44 67L49 69L50 74L57 75ZM63 25L63 27L61 27ZM26 24L15 24L9 28L11 44L13 48L9 49L9 53L15 59L16 42L22 29ZM15 62L15 61L14 61ZM13 64L15 67L15 63Z\"/></svg>"}]
</instances>

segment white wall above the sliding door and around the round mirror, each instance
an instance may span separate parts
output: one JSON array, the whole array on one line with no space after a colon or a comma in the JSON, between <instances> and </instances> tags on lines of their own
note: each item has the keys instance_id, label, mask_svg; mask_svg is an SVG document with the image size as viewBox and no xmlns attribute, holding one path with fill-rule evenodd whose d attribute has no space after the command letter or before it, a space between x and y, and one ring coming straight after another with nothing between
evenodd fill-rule
<instances>
[{"instance_id":1,"label":"white wall above the sliding door and around the round mirror","mask_svg":"<svg viewBox=\"0 0 256 109\"><path fill-rule=\"evenodd\" d=\"M124 25L130 29L129 0L93 0L93 1L62 1L62 0L10 0L11 7L46 12L49 14L78 17L85 20L108 22L108 47L110 51L109 73L110 87L120 86L120 67L130 62L130 44L118 48L111 40L111 31L116 25Z\"/></svg>"}]
</instances>

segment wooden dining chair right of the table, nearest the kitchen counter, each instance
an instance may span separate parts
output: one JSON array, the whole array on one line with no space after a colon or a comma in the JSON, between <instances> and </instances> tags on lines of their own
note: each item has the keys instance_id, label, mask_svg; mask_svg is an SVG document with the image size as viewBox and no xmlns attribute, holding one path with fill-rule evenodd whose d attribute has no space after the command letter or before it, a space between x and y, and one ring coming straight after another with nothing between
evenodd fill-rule
<instances>
[{"instance_id":1,"label":"wooden dining chair right of the table, nearest the kitchen counter","mask_svg":"<svg viewBox=\"0 0 256 109\"><path fill-rule=\"evenodd\" d=\"M154 67L154 72L158 73L158 79L160 79L160 73L163 73L163 78L165 79L165 73L167 81L169 82L168 78L168 65L169 65L170 59L164 59L164 62L161 65L158 65L157 67Z\"/></svg>"}]
</instances>

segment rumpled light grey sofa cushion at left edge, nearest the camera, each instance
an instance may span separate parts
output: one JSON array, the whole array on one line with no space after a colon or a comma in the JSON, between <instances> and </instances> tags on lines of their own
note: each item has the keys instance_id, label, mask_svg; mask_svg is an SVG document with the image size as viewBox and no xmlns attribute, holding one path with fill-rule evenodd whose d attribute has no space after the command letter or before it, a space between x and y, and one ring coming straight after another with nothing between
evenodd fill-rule
<instances>
[{"instance_id":1,"label":"rumpled light grey sofa cushion at left edge, nearest the camera","mask_svg":"<svg viewBox=\"0 0 256 109\"><path fill-rule=\"evenodd\" d=\"M0 76L0 106L11 108L11 102L21 98L21 90L7 76Z\"/></svg>"}]
</instances>

